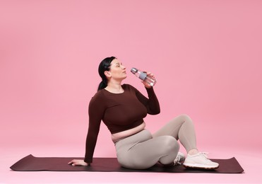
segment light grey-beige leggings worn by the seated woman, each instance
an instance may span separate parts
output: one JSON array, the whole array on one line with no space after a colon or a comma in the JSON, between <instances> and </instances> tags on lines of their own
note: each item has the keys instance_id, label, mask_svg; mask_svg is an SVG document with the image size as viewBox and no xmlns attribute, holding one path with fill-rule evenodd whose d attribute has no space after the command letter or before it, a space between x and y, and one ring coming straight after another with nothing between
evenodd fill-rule
<instances>
[{"instance_id":1,"label":"light grey-beige leggings worn by the seated woman","mask_svg":"<svg viewBox=\"0 0 262 184\"><path fill-rule=\"evenodd\" d=\"M145 169L174 162L181 142L186 151L196 149L196 133L188 115L179 115L151 134L142 130L115 143L117 160L125 168Z\"/></svg>"}]
</instances>

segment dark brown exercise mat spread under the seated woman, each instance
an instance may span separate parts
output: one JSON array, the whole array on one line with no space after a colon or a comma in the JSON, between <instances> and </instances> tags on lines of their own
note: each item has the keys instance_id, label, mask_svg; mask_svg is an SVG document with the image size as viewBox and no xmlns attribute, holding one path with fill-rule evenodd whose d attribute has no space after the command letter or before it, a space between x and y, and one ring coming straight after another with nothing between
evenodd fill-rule
<instances>
[{"instance_id":1,"label":"dark brown exercise mat spread under the seated woman","mask_svg":"<svg viewBox=\"0 0 262 184\"><path fill-rule=\"evenodd\" d=\"M160 164L145 169L136 170L123 168L117 158L94 158L91 166L71 166L67 163L73 157L35 157L31 154L17 161L10 168L13 171L97 171L97 172L155 172L155 173L242 173L244 170L234 157L231 159L211 159L220 163L215 170L189 169L184 166L162 167Z\"/></svg>"}]
</instances>

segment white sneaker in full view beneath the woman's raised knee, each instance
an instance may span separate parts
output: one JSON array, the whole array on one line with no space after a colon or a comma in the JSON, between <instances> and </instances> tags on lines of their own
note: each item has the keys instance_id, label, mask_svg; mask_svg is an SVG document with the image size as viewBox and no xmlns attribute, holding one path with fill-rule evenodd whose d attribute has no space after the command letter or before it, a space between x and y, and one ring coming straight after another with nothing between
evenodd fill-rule
<instances>
[{"instance_id":1,"label":"white sneaker in full view beneath the woman's raised knee","mask_svg":"<svg viewBox=\"0 0 262 184\"><path fill-rule=\"evenodd\" d=\"M186 168L203 168L203 169L215 169L219 167L219 164L208 159L206 153L199 152L194 155L187 155L183 164Z\"/></svg>"}]
</instances>

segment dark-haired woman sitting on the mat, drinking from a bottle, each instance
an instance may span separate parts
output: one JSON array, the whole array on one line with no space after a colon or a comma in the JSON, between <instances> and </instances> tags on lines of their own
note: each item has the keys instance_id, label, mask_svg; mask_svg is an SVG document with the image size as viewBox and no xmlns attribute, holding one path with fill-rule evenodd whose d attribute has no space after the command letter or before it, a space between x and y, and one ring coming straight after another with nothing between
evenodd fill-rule
<instances>
[{"instance_id":1,"label":"dark-haired woman sitting on the mat, drinking from a bottle","mask_svg":"<svg viewBox=\"0 0 262 184\"><path fill-rule=\"evenodd\" d=\"M148 93L146 98L133 86L122 85L121 82L126 79L126 68L116 57L103 59L98 71L102 82L88 108L85 159L74 159L69 164L89 166L92 163L102 120L112 134L117 160L123 167L145 169L157 162L164 166L174 166L184 161L183 165L188 168L218 168L218 163L198 152L196 134L189 116L175 117L155 134L145 130L143 118L147 114L160 113L160 105L152 86L142 81ZM154 77L150 72L147 75ZM187 151L186 159L179 153L178 139Z\"/></svg>"}]
</instances>

